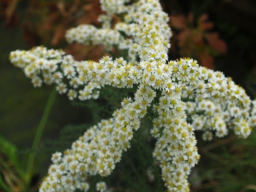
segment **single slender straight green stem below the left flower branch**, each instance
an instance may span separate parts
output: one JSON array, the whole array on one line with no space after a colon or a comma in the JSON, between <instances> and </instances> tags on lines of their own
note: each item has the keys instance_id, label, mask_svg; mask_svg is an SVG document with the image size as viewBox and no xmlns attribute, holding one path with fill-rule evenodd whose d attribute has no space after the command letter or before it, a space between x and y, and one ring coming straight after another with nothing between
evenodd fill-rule
<instances>
[{"instance_id":1,"label":"single slender straight green stem below the left flower branch","mask_svg":"<svg viewBox=\"0 0 256 192\"><path fill-rule=\"evenodd\" d=\"M49 96L48 102L46 104L46 107L44 109L43 116L42 116L42 118L39 122L38 128L37 128L37 132L36 132L34 142L33 142L33 145L32 145L32 152L28 156L27 168L26 168L26 173L25 173L25 176L24 176L24 181L25 181L24 184L25 184L26 189L28 189L28 187L30 185L30 182L31 182L31 179L32 179L32 176L33 176L33 168L34 168L34 161L35 161L35 157L36 157L36 151L37 151L42 133L44 131L45 124L48 120L52 105L53 105L54 100L56 98L56 94L57 94L56 90L55 90L55 88L53 88L51 93L50 93L50 96Z\"/></svg>"}]
</instances>

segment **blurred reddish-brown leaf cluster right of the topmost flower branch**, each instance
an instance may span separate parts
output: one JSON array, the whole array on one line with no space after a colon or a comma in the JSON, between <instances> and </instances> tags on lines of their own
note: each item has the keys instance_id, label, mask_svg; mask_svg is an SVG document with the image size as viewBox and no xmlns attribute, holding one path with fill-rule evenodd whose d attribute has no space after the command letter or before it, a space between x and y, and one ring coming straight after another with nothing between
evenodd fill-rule
<instances>
[{"instance_id":1,"label":"blurred reddish-brown leaf cluster right of the topmost flower branch","mask_svg":"<svg viewBox=\"0 0 256 192\"><path fill-rule=\"evenodd\" d=\"M207 14L194 20L193 12L184 15L171 15L171 27L178 31L173 38L177 41L181 57L198 58L202 66L214 69L213 56L225 54L227 44L219 38L218 32L211 32L214 24L207 21Z\"/></svg>"}]
</instances>

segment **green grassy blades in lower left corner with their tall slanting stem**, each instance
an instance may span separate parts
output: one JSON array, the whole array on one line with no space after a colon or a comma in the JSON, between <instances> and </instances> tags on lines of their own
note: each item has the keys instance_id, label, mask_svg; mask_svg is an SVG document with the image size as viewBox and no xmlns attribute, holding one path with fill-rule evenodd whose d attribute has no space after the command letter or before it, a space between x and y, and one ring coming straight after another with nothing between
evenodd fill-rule
<instances>
[{"instance_id":1,"label":"green grassy blades in lower left corner with their tall slanting stem","mask_svg":"<svg viewBox=\"0 0 256 192\"><path fill-rule=\"evenodd\" d=\"M55 96L56 91L53 90L38 125L32 145L32 151L30 152L29 156L24 157L26 161L25 166L18 161L17 149L15 145L0 137L0 154L2 155L0 167L3 175L3 178L0 177L0 187L6 192L36 191L37 185L32 188L30 187L33 176L35 175L36 150L38 148L45 124L48 120Z\"/></svg>"}]
</instances>

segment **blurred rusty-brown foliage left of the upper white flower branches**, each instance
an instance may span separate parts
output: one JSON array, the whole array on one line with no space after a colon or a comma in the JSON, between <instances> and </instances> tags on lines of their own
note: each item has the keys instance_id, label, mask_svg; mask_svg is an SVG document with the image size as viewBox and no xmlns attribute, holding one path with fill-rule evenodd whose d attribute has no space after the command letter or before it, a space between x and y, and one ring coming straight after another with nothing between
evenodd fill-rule
<instances>
[{"instance_id":1,"label":"blurred rusty-brown foliage left of the upper white flower branches","mask_svg":"<svg viewBox=\"0 0 256 192\"><path fill-rule=\"evenodd\" d=\"M65 31L77 24L99 25L98 15L102 13L97 0L1 0L0 15L6 27L16 27L19 21L17 4L29 4L22 20L23 37L30 47L40 43L57 47L65 44ZM93 11L91 11L93 10ZM76 60L98 60L105 53L102 46L68 45L67 53Z\"/></svg>"}]
</instances>

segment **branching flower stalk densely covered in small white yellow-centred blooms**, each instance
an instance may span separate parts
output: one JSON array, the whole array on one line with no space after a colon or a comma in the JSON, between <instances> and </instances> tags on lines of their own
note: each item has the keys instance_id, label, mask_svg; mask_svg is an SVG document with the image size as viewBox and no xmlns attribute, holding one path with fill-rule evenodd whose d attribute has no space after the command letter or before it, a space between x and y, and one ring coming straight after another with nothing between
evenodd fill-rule
<instances>
[{"instance_id":1,"label":"branching flower stalk densely covered in small white yellow-centred blooms","mask_svg":"<svg viewBox=\"0 0 256 192\"><path fill-rule=\"evenodd\" d=\"M103 44L127 52L127 60L104 56L98 62L75 61L62 50L45 47L11 52L11 62L24 70L35 87L55 84L70 100L97 99L101 87L136 87L134 98L124 98L108 120L88 129L63 154L52 155L52 165L40 192L87 191L86 178L108 176L130 147L133 133L147 110L153 109L151 134L157 139L153 156L170 192L188 192L188 175L198 162L195 130L203 139L224 137L231 129L247 138L256 125L256 100L222 72L200 67L193 59L168 61L171 29L158 0L100 0L106 12L102 28L79 25L66 33L69 43ZM112 16L119 22L112 22ZM135 86L134 86L135 85ZM160 92L161 96L156 97ZM157 105L152 105L156 99ZM106 184L99 182L98 191Z\"/></svg>"}]
</instances>

